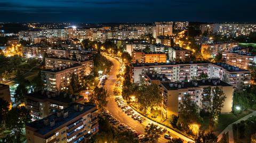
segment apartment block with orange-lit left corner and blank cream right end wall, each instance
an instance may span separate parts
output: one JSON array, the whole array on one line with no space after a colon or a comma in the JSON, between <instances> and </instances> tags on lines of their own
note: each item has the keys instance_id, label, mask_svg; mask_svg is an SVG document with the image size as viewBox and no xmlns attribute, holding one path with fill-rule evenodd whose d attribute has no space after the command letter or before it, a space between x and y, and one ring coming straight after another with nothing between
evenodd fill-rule
<instances>
[{"instance_id":1,"label":"apartment block with orange-lit left corner and blank cream right end wall","mask_svg":"<svg viewBox=\"0 0 256 143\"><path fill-rule=\"evenodd\" d=\"M158 84L161 95L163 96L162 113L165 117L170 115L178 115L180 105L184 96L190 96L191 100L196 103L199 109L205 109L203 102L203 90L206 87L219 87L225 94L226 99L224 106L221 108L221 113L229 113L232 111L233 105L233 87L219 79L197 80L190 82L172 82L163 80L164 75L157 77L155 74L147 74L146 81ZM159 80L158 82L156 82Z\"/></svg>"}]
</instances>

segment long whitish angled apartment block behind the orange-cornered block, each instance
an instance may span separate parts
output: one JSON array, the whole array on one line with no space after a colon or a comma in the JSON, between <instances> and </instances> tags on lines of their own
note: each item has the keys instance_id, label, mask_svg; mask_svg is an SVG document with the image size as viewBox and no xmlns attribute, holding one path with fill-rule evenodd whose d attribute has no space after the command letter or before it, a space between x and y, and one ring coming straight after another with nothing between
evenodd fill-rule
<instances>
[{"instance_id":1,"label":"long whitish angled apartment block behind the orange-cornered block","mask_svg":"<svg viewBox=\"0 0 256 143\"><path fill-rule=\"evenodd\" d=\"M157 73L164 74L171 81L188 81L207 73L209 78L221 79L236 89L250 85L250 71L221 63L207 62L170 62L170 63L133 63L133 81L138 82L141 75Z\"/></svg>"}]
</instances>

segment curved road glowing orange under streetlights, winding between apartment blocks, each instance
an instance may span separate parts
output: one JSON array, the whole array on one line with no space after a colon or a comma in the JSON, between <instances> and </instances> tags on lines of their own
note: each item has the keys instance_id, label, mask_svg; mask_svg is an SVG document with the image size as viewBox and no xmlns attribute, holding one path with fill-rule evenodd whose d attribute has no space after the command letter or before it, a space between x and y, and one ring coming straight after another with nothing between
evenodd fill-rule
<instances>
[{"instance_id":1,"label":"curved road glowing orange under streetlights, winding between apartment blocks","mask_svg":"<svg viewBox=\"0 0 256 143\"><path fill-rule=\"evenodd\" d=\"M107 89L108 91L108 95L109 97L107 98L108 100L108 104L107 104L107 110L113 115L116 117L116 119L118 119L121 123L125 123L127 124L129 127L133 128L134 130L137 130L138 132L142 133L142 134L145 134L145 127L148 123L151 123L153 121L149 120L149 119L146 119L145 122L143 122L142 124L140 124L138 121L135 121L133 120L130 116L126 115L124 112L122 112L121 108L119 108L115 102L115 95L113 95L113 91L114 91L114 87L115 87L115 82L116 82L116 75L118 74L119 72L119 66L120 66L120 63L115 60L115 58L113 57L110 57L110 56L106 56L112 63L113 63L113 68L112 70L110 71L110 74L109 74L109 78L108 80L106 81L106 86L105 88ZM136 113L136 112L134 112ZM154 124L157 124L154 122ZM158 124L159 125L159 124ZM161 127L163 127L162 125L159 125ZM168 131L170 131L170 134L172 137L175 137L175 138L181 138L183 140L185 140L186 142L187 141L193 141L185 136L183 136L182 134L179 134L173 130L170 130L167 128ZM168 140L166 140L163 135L161 136L161 138L158 139L158 142L161 142L161 143L165 143L167 142Z\"/></svg>"}]
</instances>

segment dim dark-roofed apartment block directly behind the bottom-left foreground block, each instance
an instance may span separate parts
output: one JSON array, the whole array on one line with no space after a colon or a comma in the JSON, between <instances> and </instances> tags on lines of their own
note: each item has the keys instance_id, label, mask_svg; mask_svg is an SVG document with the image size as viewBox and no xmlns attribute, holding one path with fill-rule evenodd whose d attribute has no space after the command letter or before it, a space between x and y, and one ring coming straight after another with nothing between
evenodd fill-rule
<instances>
[{"instance_id":1,"label":"dim dark-roofed apartment block directly behind the bottom-left foreground block","mask_svg":"<svg viewBox=\"0 0 256 143\"><path fill-rule=\"evenodd\" d=\"M83 96L46 90L25 95L25 105L33 119L42 119L73 103L84 104Z\"/></svg>"}]
</instances>

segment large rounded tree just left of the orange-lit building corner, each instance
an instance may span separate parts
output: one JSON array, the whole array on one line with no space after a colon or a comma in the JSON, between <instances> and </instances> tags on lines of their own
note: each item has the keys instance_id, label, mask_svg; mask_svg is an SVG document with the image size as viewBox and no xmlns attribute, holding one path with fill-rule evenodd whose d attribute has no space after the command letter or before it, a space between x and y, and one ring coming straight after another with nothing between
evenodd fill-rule
<instances>
[{"instance_id":1,"label":"large rounded tree just left of the orange-lit building corner","mask_svg":"<svg viewBox=\"0 0 256 143\"><path fill-rule=\"evenodd\" d=\"M140 110L143 112L150 111L154 106L158 106L162 102L162 95L160 94L158 85L152 83L151 85L142 85L139 88L137 95Z\"/></svg>"}]
</instances>

